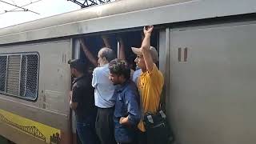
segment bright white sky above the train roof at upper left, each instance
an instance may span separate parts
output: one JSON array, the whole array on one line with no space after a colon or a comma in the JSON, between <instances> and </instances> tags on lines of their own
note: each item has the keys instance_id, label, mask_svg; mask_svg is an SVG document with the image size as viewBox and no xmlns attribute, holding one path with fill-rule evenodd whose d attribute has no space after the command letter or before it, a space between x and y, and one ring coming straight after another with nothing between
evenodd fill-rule
<instances>
[{"instance_id":1,"label":"bright white sky above the train roof at upper left","mask_svg":"<svg viewBox=\"0 0 256 144\"><path fill-rule=\"evenodd\" d=\"M38 14L30 11L7 12L5 10L13 10L14 6L9 6L4 2L9 2L17 6L24 6L30 2L35 2L24 8L32 10ZM39 18L46 18L56 14L62 14L73 10L79 10L80 6L74 2L67 0L1 0L0 1L0 28L17 25L18 23L29 22ZM17 9L22 10L22 9Z\"/></svg>"}]
</instances>

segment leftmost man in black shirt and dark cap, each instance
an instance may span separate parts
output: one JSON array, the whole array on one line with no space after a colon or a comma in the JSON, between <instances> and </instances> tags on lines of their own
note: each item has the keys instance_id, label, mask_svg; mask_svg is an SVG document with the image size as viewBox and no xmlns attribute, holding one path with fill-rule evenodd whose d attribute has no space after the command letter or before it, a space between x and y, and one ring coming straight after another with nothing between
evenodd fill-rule
<instances>
[{"instance_id":1,"label":"leftmost man in black shirt and dark cap","mask_svg":"<svg viewBox=\"0 0 256 144\"><path fill-rule=\"evenodd\" d=\"M78 137L82 144L95 144L94 88L91 86L91 74L86 72L86 65L79 59L71 60L70 71L75 78L70 95L70 108L75 111Z\"/></svg>"}]
</instances>

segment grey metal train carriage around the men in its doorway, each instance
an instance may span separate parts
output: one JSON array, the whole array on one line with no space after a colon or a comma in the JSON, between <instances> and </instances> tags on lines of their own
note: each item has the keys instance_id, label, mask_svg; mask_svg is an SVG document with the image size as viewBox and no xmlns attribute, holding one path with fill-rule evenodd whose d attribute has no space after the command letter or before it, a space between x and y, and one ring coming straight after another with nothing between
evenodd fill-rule
<instances>
[{"instance_id":1,"label":"grey metal train carriage around the men in its doorway","mask_svg":"<svg viewBox=\"0 0 256 144\"><path fill-rule=\"evenodd\" d=\"M123 0L0 29L0 135L18 144L74 141L71 58L102 34L139 46L154 25L166 112L179 144L254 143L256 1ZM94 48L96 47L96 48Z\"/></svg>"}]
</instances>

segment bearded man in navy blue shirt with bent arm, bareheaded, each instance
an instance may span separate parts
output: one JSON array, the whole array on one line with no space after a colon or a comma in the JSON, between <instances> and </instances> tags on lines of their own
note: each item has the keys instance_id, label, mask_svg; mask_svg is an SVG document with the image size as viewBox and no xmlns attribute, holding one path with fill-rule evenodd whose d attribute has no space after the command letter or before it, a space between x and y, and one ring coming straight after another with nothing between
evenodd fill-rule
<instances>
[{"instance_id":1,"label":"bearded man in navy blue shirt with bent arm, bareheaded","mask_svg":"<svg viewBox=\"0 0 256 144\"><path fill-rule=\"evenodd\" d=\"M141 118L139 94L134 82L130 80L130 66L121 59L109 64L110 80L118 85L114 90L114 137L119 144L135 144L136 130Z\"/></svg>"}]
</instances>

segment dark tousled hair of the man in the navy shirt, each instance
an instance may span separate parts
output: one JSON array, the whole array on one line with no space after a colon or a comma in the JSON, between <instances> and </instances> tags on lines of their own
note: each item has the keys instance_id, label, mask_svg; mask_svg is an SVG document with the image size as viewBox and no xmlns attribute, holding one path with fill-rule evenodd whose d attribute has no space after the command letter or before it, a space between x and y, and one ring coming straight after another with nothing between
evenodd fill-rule
<instances>
[{"instance_id":1,"label":"dark tousled hair of the man in the navy shirt","mask_svg":"<svg viewBox=\"0 0 256 144\"><path fill-rule=\"evenodd\" d=\"M122 59L114 59L109 63L109 69L111 74L117 74L123 76L126 79L130 79L130 66L128 62Z\"/></svg>"}]
</instances>

